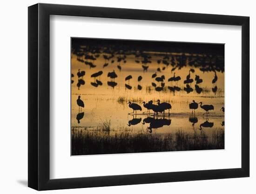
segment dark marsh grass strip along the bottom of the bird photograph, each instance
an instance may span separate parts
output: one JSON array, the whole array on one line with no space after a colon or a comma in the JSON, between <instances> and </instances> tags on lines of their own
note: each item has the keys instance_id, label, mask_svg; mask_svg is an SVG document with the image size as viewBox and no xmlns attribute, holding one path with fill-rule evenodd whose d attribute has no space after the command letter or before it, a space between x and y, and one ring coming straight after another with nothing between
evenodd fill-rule
<instances>
[{"instance_id":1,"label":"dark marsh grass strip along the bottom of the bird photograph","mask_svg":"<svg viewBox=\"0 0 256 194\"><path fill-rule=\"evenodd\" d=\"M121 154L165 151L224 149L224 131L213 131L212 137L203 131L173 134L148 134L141 130L119 131L110 134L110 121L104 121L98 130L78 129L72 133L72 155ZM102 133L103 132L103 133Z\"/></svg>"}]
</instances>

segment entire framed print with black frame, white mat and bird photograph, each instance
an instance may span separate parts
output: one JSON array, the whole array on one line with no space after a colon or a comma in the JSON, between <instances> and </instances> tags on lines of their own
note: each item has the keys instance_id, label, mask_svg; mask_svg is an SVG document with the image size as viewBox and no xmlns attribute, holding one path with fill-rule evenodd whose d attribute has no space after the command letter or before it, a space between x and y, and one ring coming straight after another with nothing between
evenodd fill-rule
<instances>
[{"instance_id":1,"label":"entire framed print with black frame, white mat and bird photograph","mask_svg":"<svg viewBox=\"0 0 256 194\"><path fill-rule=\"evenodd\" d=\"M28 7L28 186L249 176L249 17Z\"/></svg>"}]
</instances>

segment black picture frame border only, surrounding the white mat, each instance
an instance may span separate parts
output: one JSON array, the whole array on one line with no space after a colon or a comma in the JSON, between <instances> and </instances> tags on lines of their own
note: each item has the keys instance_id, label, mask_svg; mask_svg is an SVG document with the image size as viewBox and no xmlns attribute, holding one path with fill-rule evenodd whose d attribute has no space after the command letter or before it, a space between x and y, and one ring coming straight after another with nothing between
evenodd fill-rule
<instances>
[{"instance_id":1,"label":"black picture frame border only, surrounding the white mat","mask_svg":"<svg viewBox=\"0 0 256 194\"><path fill-rule=\"evenodd\" d=\"M50 15L242 26L242 167L217 170L50 179ZM249 17L109 7L28 7L28 187L52 190L249 176Z\"/></svg>"}]
</instances>

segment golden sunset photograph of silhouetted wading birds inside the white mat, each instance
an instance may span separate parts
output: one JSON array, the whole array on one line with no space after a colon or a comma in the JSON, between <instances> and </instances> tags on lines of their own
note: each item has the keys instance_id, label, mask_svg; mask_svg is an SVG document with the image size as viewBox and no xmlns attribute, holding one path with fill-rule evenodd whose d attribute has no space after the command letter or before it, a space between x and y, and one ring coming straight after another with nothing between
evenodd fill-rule
<instances>
[{"instance_id":1,"label":"golden sunset photograph of silhouetted wading birds inside the white mat","mask_svg":"<svg viewBox=\"0 0 256 194\"><path fill-rule=\"evenodd\" d=\"M71 38L71 155L224 149L224 44Z\"/></svg>"}]
</instances>

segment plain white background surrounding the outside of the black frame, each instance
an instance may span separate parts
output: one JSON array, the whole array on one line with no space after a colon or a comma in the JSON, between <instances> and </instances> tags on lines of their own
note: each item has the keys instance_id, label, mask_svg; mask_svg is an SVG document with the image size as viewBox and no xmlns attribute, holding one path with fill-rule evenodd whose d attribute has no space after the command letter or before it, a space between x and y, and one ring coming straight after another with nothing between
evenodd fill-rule
<instances>
[{"instance_id":1,"label":"plain white background surrounding the outside of the black frame","mask_svg":"<svg viewBox=\"0 0 256 194\"><path fill-rule=\"evenodd\" d=\"M250 89L251 99L256 97L253 86L256 71L253 67L253 47L256 39L253 36L256 28L256 12L252 0L41 0L41 3L74 4L100 7L122 7L151 9L177 12L214 13L250 16ZM27 187L27 7L38 3L36 0L2 1L0 7L0 192L1 193L36 193ZM253 122L256 102L251 100L250 120L250 178L236 178L210 181L188 181L175 183L147 184L119 187L98 187L84 189L67 189L46 191L44 193L246 193L256 192L256 124ZM253 111L254 110L254 111Z\"/></svg>"}]
</instances>

